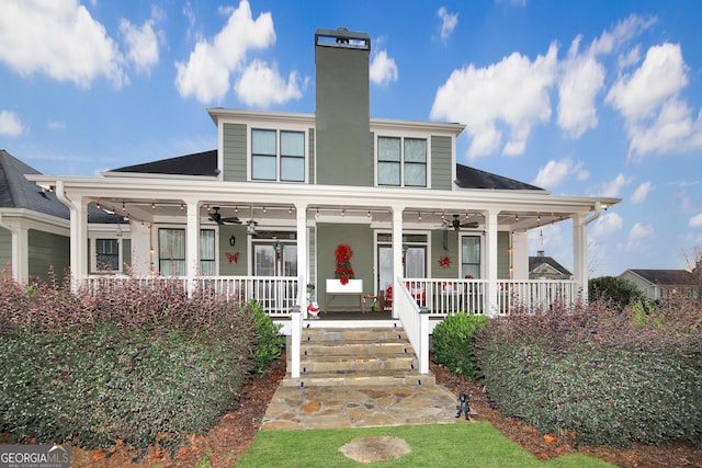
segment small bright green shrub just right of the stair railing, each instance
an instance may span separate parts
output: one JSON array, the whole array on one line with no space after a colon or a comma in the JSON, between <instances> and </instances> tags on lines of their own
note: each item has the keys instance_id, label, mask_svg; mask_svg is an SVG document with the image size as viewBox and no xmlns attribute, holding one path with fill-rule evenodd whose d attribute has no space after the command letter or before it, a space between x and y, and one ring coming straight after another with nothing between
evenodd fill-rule
<instances>
[{"instance_id":1,"label":"small bright green shrub just right of the stair railing","mask_svg":"<svg viewBox=\"0 0 702 468\"><path fill-rule=\"evenodd\" d=\"M475 380L477 367L474 356L475 332L487 323L485 316L452 313L434 328L433 362L452 373Z\"/></svg>"}]
</instances>

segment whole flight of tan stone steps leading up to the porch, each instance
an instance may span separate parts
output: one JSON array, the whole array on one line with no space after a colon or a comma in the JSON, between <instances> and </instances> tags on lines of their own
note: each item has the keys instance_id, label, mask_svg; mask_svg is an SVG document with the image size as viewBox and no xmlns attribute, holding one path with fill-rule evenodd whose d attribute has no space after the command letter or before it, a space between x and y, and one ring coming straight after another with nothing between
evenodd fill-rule
<instances>
[{"instance_id":1,"label":"whole flight of tan stone steps leading up to the porch","mask_svg":"<svg viewBox=\"0 0 702 468\"><path fill-rule=\"evenodd\" d=\"M401 328L304 329L301 377L287 387L434 385L420 375L415 351Z\"/></svg>"}]
</instances>

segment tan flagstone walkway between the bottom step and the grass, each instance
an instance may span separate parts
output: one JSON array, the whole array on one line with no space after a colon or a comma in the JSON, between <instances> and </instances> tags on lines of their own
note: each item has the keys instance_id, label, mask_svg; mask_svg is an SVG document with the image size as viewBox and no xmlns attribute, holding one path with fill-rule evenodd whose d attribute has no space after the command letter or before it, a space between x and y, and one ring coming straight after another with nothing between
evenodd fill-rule
<instances>
[{"instance_id":1,"label":"tan flagstone walkway between the bottom step and the grass","mask_svg":"<svg viewBox=\"0 0 702 468\"><path fill-rule=\"evenodd\" d=\"M456 396L440 385L280 386L262 430L449 424L458 421Z\"/></svg>"}]
</instances>

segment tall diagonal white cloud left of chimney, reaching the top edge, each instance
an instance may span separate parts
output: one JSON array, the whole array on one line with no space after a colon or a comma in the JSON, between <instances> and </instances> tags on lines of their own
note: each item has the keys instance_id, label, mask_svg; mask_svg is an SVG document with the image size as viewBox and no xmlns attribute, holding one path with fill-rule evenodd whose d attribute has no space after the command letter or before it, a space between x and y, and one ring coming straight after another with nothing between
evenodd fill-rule
<instances>
[{"instance_id":1,"label":"tall diagonal white cloud left of chimney, reaching the top edge","mask_svg":"<svg viewBox=\"0 0 702 468\"><path fill-rule=\"evenodd\" d=\"M275 43L270 12L253 20L246 0L227 11L231 14L224 28L212 38L199 41L188 61L176 62L176 88L182 98L195 96L205 104L222 100L229 91L230 73L246 69L247 53Z\"/></svg>"}]
</instances>

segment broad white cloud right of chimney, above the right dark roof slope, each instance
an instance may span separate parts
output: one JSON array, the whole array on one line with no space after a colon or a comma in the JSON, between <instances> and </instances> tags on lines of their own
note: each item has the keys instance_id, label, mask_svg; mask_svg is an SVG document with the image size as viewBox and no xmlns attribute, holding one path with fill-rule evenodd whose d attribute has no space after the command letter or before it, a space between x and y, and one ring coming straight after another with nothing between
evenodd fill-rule
<instances>
[{"instance_id":1,"label":"broad white cloud right of chimney, above the right dark roof slope","mask_svg":"<svg viewBox=\"0 0 702 468\"><path fill-rule=\"evenodd\" d=\"M552 44L545 56L533 61L514 53L485 68L469 65L454 70L437 90L430 116L467 125L469 158L500 149L498 124L510 129L502 153L521 155L532 126L551 117L548 88L555 80L556 56L557 47Z\"/></svg>"}]
</instances>

